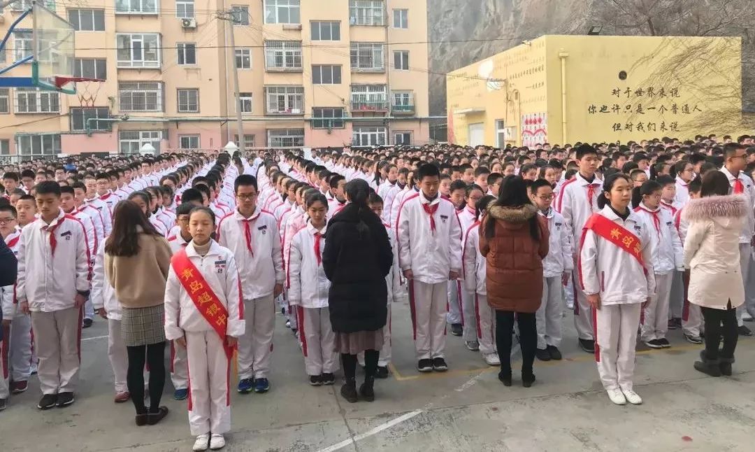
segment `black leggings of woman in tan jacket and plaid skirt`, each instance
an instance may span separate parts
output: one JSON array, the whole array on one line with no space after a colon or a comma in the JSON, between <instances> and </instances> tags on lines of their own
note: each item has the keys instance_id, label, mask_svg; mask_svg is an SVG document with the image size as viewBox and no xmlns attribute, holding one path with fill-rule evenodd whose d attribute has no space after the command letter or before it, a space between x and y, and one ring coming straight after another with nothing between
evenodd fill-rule
<instances>
[{"instance_id":1,"label":"black leggings of woman in tan jacket and plaid skirt","mask_svg":"<svg viewBox=\"0 0 755 452\"><path fill-rule=\"evenodd\" d=\"M146 350L145 350L146 349ZM149 364L149 413L157 413L162 389L165 386L165 342L126 347L128 372L126 385L137 414L147 412L144 407L144 362Z\"/></svg>"}]
</instances>

